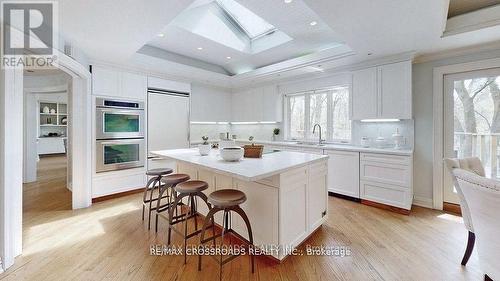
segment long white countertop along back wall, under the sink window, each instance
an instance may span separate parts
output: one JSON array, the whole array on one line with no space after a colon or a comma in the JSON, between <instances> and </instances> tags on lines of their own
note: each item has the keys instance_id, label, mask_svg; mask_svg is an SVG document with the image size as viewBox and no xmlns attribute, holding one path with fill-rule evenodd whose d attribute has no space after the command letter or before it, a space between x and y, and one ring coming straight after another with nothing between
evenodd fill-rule
<instances>
[{"instance_id":1,"label":"long white countertop along back wall, under the sink window","mask_svg":"<svg viewBox=\"0 0 500 281\"><path fill-rule=\"evenodd\" d=\"M219 140L209 140L208 142L218 142ZM237 142L250 143L249 140L245 139L237 139ZM199 142L191 142L191 144L199 144ZM411 156L413 154L413 149L411 148L402 148L402 149L394 149L392 147L388 148L376 148L376 147L362 147L351 144L325 144L323 146L311 145L311 144L297 144L294 142L287 141L261 141L254 140L253 143L256 144L267 144L267 145L276 145L276 146L289 146L289 147L300 147L300 148L310 148L310 149L318 149L318 150L344 150L344 151L358 151L358 152L369 152L369 153L384 153L384 154L394 154L394 155L405 155Z\"/></svg>"}]
</instances>

